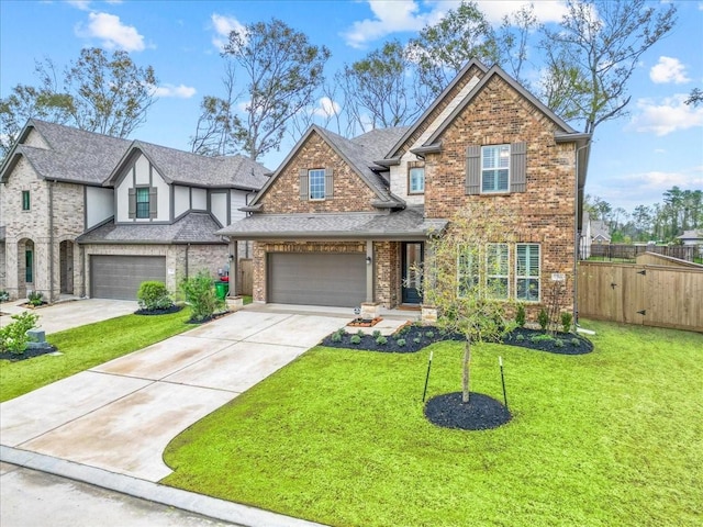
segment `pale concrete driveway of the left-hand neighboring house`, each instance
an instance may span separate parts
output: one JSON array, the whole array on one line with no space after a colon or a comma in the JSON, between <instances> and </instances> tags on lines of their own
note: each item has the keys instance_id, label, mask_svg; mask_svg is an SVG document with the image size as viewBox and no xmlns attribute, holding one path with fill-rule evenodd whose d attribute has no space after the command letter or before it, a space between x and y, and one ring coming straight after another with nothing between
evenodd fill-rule
<instances>
[{"instance_id":1,"label":"pale concrete driveway of the left-hand neighboring house","mask_svg":"<svg viewBox=\"0 0 703 527\"><path fill-rule=\"evenodd\" d=\"M0 326L12 322L9 315L32 311L40 315L40 329L44 329L48 335L115 316L129 315L136 310L138 310L137 303L130 300L83 299L59 302L38 310L21 307L19 301L4 302L0 305L0 312L8 313L8 315L0 316Z\"/></svg>"}]
</instances>

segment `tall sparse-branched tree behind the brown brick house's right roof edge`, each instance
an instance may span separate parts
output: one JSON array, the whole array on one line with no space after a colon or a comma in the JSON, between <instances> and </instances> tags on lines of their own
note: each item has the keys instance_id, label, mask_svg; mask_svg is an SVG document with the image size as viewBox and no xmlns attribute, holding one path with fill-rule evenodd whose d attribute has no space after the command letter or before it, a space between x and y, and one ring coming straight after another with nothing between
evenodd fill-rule
<instances>
[{"instance_id":1,"label":"tall sparse-branched tree behind the brown brick house's right roof edge","mask_svg":"<svg viewBox=\"0 0 703 527\"><path fill-rule=\"evenodd\" d=\"M625 115L641 55L676 23L673 4L660 9L646 0L568 0L559 27L544 30L547 105L590 134Z\"/></svg>"}]
</instances>

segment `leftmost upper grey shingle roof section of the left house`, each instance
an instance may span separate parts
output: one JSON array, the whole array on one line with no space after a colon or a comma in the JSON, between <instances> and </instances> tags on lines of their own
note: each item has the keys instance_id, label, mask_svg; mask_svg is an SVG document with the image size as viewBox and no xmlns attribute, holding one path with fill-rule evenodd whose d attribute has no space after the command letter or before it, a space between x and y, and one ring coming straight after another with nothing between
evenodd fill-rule
<instances>
[{"instance_id":1,"label":"leftmost upper grey shingle roof section of the left house","mask_svg":"<svg viewBox=\"0 0 703 527\"><path fill-rule=\"evenodd\" d=\"M44 138L48 149L22 144L32 130ZM101 184L130 143L127 139L31 119L0 167L0 180L7 181L24 156L42 179Z\"/></svg>"}]
</instances>

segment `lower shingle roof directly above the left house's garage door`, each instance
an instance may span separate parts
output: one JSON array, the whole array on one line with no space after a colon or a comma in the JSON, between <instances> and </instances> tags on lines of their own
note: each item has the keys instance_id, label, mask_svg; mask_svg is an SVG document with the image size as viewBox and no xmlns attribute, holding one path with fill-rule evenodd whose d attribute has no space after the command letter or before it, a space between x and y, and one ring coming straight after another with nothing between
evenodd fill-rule
<instances>
[{"instance_id":1,"label":"lower shingle roof directly above the left house's garage door","mask_svg":"<svg viewBox=\"0 0 703 527\"><path fill-rule=\"evenodd\" d=\"M205 212L191 212L176 223L105 223L81 234L79 244L222 244L220 225Z\"/></svg>"}]
</instances>

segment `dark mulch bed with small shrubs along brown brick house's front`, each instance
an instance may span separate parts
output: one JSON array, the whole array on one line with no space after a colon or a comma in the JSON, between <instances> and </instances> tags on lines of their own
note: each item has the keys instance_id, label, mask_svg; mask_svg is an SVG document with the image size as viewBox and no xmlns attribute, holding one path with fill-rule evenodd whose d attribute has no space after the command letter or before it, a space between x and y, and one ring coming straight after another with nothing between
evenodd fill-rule
<instances>
[{"instance_id":1,"label":"dark mulch bed with small shrubs along brown brick house's front","mask_svg":"<svg viewBox=\"0 0 703 527\"><path fill-rule=\"evenodd\" d=\"M362 335L356 332L346 332L342 335L342 339L337 341L335 341L334 335L334 333L327 335L322 340L322 345L330 348L359 349L388 354L414 354L440 340L464 340L462 335L449 334L442 332L437 327L415 324L403 326L393 335L388 336L386 344L378 344L376 337L372 335ZM361 340L358 344L352 343L354 335L359 335ZM593 344L581 335L557 333L556 338L549 340L542 340L540 338L543 337L540 337L540 335L545 334L537 329L518 327L505 336L503 344L558 355L583 355L593 351ZM538 337L538 339L535 341L533 340L534 337ZM401 346L399 340L404 340L404 345Z\"/></svg>"}]
</instances>

